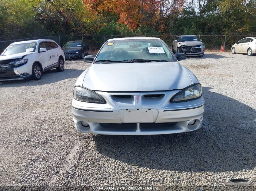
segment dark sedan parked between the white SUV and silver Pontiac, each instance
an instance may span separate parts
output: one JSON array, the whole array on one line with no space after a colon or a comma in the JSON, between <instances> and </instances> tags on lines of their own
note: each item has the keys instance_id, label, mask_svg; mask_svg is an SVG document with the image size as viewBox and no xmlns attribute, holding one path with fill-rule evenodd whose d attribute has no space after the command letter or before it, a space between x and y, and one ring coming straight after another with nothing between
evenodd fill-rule
<instances>
[{"instance_id":1,"label":"dark sedan parked between the white SUV and silver Pontiac","mask_svg":"<svg viewBox=\"0 0 256 191\"><path fill-rule=\"evenodd\" d=\"M84 45L81 40L69 41L63 46L65 59L81 58L89 55L88 45Z\"/></svg>"}]
</instances>

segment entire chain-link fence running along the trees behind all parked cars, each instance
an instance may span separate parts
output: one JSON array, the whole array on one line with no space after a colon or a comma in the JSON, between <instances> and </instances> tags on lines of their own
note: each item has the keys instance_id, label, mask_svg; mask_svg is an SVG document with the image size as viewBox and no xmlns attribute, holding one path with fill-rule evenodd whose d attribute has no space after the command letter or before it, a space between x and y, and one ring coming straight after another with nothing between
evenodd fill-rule
<instances>
[{"instance_id":1,"label":"entire chain-link fence running along the trees behind all parked cars","mask_svg":"<svg viewBox=\"0 0 256 191\"><path fill-rule=\"evenodd\" d=\"M172 43L175 37L183 35L183 34L142 34L137 36L143 37L158 37L165 41L168 46L172 46ZM224 45L225 51L230 51L231 46L237 41L245 38L252 37L252 34L238 34L238 33L227 33L227 34L209 34L209 33L199 33L194 34L201 39L205 44L206 51L219 51L221 46ZM255 35L256 36L256 33ZM90 50L98 50L101 48L102 44L105 43L106 40L112 38L121 38L121 37L134 37L134 35L84 35L84 34L75 34L75 33L61 33L58 36L46 36L46 37L31 37L26 39L5 39L4 41L0 41L0 53L11 43L17 41L25 41L25 40L34 40L34 39L52 39L55 40L61 47L68 41L72 40L82 40L84 44L88 44Z\"/></svg>"}]
</instances>

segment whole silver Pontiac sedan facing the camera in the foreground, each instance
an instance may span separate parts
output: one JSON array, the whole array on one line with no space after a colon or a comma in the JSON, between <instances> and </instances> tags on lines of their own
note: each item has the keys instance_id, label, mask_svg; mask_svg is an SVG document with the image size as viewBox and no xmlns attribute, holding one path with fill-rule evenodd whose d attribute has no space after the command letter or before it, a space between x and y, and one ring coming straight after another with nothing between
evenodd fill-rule
<instances>
[{"instance_id":1,"label":"whole silver Pontiac sedan facing the camera in the foreground","mask_svg":"<svg viewBox=\"0 0 256 191\"><path fill-rule=\"evenodd\" d=\"M110 39L75 83L72 113L81 132L155 135L199 129L202 87L159 38Z\"/></svg>"}]
</instances>

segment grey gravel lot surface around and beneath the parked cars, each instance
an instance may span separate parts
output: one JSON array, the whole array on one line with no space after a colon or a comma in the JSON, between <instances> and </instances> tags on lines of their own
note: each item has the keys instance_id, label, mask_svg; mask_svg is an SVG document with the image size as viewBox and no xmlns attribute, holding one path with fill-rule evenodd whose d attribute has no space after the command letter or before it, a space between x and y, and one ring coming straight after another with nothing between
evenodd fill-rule
<instances>
[{"instance_id":1,"label":"grey gravel lot surface around and beneath the parked cars","mask_svg":"<svg viewBox=\"0 0 256 191\"><path fill-rule=\"evenodd\" d=\"M201 129L154 136L75 130L72 90L89 66L65 62L40 81L0 82L0 190L256 190L256 56L208 52L180 61L205 99ZM243 178L249 186L226 186Z\"/></svg>"}]
</instances>

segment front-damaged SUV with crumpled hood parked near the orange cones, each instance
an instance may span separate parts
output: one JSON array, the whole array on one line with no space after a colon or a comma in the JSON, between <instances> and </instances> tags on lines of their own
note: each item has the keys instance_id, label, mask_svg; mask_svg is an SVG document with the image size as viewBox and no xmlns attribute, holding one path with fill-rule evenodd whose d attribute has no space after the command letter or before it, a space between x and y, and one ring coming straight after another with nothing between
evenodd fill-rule
<instances>
[{"instance_id":1,"label":"front-damaged SUV with crumpled hood parked near the orange cones","mask_svg":"<svg viewBox=\"0 0 256 191\"><path fill-rule=\"evenodd\" d=\"M173 53L185 53L187 56L204 56L205 46L195 35L181 35L172 43Z\"/></svg>"}]
</instances>

